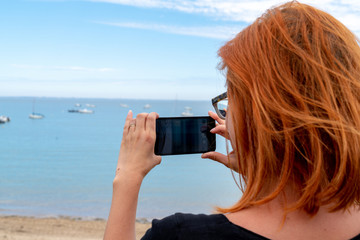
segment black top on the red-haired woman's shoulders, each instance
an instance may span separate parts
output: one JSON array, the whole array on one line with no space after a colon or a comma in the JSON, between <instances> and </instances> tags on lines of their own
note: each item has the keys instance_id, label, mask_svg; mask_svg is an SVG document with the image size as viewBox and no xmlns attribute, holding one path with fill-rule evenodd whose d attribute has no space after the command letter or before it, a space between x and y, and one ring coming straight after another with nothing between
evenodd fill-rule
<instances>
[{"instance_id":1,"label":"black top on the red-haired woman's shoulders","mask_svg":"<svg viewBox=\"0 0 360 240\"><path fill-rule=\"evenodd\" d=\"M268 239L233 224L222 214L183 214L176 213L162 220L153 220L142 240L227 240ZM360 240L360 234L351 240Z\"/></svg>"}]
</instances>

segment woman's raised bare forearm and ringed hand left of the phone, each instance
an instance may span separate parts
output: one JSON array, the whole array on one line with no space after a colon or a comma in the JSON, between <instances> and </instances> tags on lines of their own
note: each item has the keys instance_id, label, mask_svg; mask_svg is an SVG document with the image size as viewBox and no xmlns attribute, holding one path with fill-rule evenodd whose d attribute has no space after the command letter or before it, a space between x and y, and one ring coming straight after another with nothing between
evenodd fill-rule
<instances>
[{"instance_id":1,"label":"woman's raised bare forearm and ringed hand left of the phone","mask_svg":"<svg viewBox=\"0 0 360 240\"><path fill-rule=\"evenodd\" d=\"M156 113L126 117L105 240L134 240L138 195L146 174L161 162L154 154Z\"/></svg>"}]
</instances>

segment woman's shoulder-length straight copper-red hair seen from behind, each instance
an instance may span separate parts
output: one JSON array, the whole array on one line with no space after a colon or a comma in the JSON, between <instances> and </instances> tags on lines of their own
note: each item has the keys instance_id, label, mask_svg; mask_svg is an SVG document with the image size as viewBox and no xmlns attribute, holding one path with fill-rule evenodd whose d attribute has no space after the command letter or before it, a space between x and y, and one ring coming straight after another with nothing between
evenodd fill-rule
<instances>
[{"instance_id":1,"label":"woman's shoulder-length straight copper-red hair seen from behind","mask_svg":"<svg viewBox=\"0 0 360 240\"><path fill-rule=\"evenodd\" d=\"M360 200L360 48L329 14L290 2L219 50L246 187L232 208L294 190L286 211Z\"/></svg>"}]
</instances>

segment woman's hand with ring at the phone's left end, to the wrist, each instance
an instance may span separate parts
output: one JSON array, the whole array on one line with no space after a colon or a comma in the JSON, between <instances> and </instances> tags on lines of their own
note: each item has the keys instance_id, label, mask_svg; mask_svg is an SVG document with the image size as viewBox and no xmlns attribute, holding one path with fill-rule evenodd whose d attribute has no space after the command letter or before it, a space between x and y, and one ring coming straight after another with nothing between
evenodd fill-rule
<instances>
[{"instance_id":1,"label":"woman's hand with ring at the phone's left end, to the wrist","mask_svg":"<svg viewBox=\"0 0 360 240\"><path fill-rule=\"evenodd\" d=\"M140 113L133 119L129 111L123 131L116 174L130 174L144 178L151 169L160 164L161 157L155 155L156 119L155 112Z\"/></svg>"}]
</instances>

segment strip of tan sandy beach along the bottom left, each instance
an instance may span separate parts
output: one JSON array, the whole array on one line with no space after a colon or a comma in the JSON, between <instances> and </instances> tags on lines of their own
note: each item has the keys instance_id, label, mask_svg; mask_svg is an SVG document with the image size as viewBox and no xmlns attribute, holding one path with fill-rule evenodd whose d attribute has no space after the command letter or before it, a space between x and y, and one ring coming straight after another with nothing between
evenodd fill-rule
<instances>
[{"instance_id":1,"label":"strip of tan sandy beach along the bottom left","mask_svg":"<svg viewBox=\"0 0 360 240\"><path fill-rule=\"evenodd\" d=\"M102 239L106 220L77 218L34 218L0 216L1 240L95 240ZM136 239L140 239L151 223L137 220Z\"/></svg>"}]
</instances>

